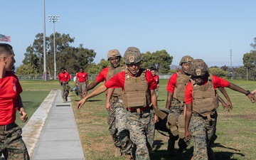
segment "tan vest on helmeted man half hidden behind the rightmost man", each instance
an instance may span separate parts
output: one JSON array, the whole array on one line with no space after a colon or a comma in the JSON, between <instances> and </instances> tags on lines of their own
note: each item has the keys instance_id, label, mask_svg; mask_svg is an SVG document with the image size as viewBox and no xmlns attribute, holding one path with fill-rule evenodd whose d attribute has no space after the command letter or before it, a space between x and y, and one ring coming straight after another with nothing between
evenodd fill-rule
<instances>
[{"instance_id":1,"label":"tan vest on helmeted man half hidden behind the rightmost man","mask_svg":"<svg viewBox=\"0 0 256 160\"><path fill-rule=\"evenodd\" d=\"M190 75L182 74L181 72L177 73L178 77L176 80L176 86L174 88L174 98L181 102L183 106L185 101L185 87L189 82Z\"/></svg>"}]
</instances>

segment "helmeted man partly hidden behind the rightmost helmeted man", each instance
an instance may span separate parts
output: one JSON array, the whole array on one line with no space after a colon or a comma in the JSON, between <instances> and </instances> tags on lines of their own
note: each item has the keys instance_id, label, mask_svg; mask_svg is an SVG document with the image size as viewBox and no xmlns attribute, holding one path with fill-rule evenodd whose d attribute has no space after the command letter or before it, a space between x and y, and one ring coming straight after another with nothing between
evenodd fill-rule
<instances>
[{"instance_id":1,"label":"helmeted man partly hidden behind the rightmost helmeted man","mask_svg":"<svg viewBox=\"0 0 256 160\"><path fill-rule=\"evenodd\" d=\"M166 87L166 108L171 110L167 117L168 127L171 130L167 151L171 156L173 156L174 145L176 140L178 140L179 148L176 156L180 158L183 158L183 150L186 149L189 144L189 142L186 142L184 139L185 117L183 115L183 111L185 107L185 87L190 78L190 75L188 74L188 67L191 64L191 60L193 60L193 58L189 55L185 55L181 58L179 63L179 65L181 65L181 70L171 76Z\"/></svg>"}]
</instances>

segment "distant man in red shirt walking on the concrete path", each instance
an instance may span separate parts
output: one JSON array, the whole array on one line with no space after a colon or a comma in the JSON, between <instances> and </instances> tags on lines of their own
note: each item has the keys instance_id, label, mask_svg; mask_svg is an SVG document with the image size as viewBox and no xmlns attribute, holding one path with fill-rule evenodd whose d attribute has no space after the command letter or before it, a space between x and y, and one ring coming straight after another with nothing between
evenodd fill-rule
<instances>
[{"instance_id":1,"label":"distant man in red shirt walking on the concrete path","mask_svg":"<svg viewBox=\"0 0 256 160\"><path fill-rule=\"evenodd\" d=\"M70 74L65 72L65 68L60 68L61 73L58 75L58 80L60 82L60 90L61 90L61 97L63 98L63 103L68 101L68 93L70 90L70 85L68 82L70 81Z\"/></svg>"}]
</instances>

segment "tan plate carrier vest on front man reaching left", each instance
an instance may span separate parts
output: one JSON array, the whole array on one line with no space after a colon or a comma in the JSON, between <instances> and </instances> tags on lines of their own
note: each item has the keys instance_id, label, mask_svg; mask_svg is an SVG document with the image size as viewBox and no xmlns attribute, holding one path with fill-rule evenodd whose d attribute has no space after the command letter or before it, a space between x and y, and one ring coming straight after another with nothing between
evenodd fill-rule
<instances>
[{"instance_id":1,"label":"tan plate carrier vest on front man reaching left","mask_svg":"<svg viewBox=\"0 0 256 160\"><path fill-rule=\"evenodd\" d=\"M151 92L146 82L146 70L143 69L142 74L134 78L125 70L125 82L123 92L124 107L133 107L134 109L142 107L151 107Z\"/></svg>"}]
</instances>

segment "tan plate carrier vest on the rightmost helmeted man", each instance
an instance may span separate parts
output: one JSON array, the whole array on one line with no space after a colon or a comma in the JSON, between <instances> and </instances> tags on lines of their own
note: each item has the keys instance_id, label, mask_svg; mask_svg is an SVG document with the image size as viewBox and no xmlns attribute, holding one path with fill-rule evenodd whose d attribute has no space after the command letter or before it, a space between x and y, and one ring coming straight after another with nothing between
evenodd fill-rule
<instances>
[{"instance_id":1,"label":"tan plate carrier vest on the rightmost helmeted man","mask_svg":"<svg viewBox=\"0 0 256 160\"><path fill-rule=\"evenodd\" d=\"M206 85L196 85L194 80L191 80L193 86L193 112L207 117L210 122L210 115L215 113L218 108L218 93L213 88L212 75L208 77Z\"/></svg>"}]
</instances>

